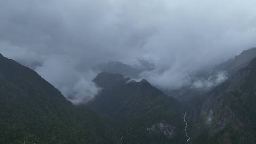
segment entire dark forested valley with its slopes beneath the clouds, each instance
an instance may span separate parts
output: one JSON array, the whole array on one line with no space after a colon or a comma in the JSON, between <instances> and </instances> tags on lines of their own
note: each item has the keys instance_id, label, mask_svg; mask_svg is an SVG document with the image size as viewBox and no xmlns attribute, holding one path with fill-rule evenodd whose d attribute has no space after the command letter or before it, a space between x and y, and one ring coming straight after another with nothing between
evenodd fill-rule
<instances>
[{"instance_id":1,"label":"entire dark forested valley with its slopes beneath the clouds","mask_svg":"<svg viewBox=\"0 0 256 144\"><path fill-rule=\"evenodd\" d=\"M1 55L0 141L5 144L253 144L256 59L244 56L243 63L248 64L240 68L240 64L233 64L240 63L236 58L229 63L232 70L238 71L229 72L226 81L207 91L187 87L170 92L175 98L145 79L134 81L122 74L101 72L93 80L101 92L89 102L73 105L36 72ZM226 71L229 67L226 64ZM184 99L187 94L190 96Z\"/></svg>"}]
</instances>

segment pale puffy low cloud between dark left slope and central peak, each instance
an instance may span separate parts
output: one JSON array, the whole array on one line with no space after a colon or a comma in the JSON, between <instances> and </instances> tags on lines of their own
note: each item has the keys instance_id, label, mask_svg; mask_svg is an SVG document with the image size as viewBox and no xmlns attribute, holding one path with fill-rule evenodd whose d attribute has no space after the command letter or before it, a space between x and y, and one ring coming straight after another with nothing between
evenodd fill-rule
<instances>
[{"instance_id":1,"label":"pale puffy low cloud between dark left slope and central peak","mask_svg":"<svg viewBox=\"0 0 256 144\"><path fill-rule=\"evenodd\" d=\"M87 102L101 90L92 82L96 76L91 70L80 72L68 56L53 55L46 58L36 71L59 89L74 104Z\"/></svg>"}]
</instances>

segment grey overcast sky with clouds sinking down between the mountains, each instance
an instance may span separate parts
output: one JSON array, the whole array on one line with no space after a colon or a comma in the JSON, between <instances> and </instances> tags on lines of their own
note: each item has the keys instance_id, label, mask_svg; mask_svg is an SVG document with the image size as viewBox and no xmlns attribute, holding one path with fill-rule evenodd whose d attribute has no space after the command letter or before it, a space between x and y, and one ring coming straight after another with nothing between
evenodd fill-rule
<instances>
[{"instance_id":1,"label":"grey overcast sky with clouds sinking down between the mountains","mask_svg":"<svg viewBox=\"0 0 256 144\"><path fill-rule=\"evenodd\" d=\"M0 53L79 101L93 65L144 58L175 88L188 72L256 46L256 0L0 0ZM73 102L77 102L74 100Z\"/></svg>"}]
</instances>

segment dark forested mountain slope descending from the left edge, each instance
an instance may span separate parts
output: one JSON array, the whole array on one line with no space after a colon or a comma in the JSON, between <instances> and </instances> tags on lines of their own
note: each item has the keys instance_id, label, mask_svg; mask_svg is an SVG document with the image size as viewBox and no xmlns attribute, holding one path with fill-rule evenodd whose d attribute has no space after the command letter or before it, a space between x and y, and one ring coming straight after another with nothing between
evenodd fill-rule
<instances>
[{"instance_id":1,"label":"dark forested mountain slope descending from the left edge","mask_svg":"<svg viewBox=\"0 0 256 144\"><path fill-rule=\"evenodd\" d=\"M1 144L120 144L120 133L107 123L0 54Z\"/></svg>"}]
</instances>

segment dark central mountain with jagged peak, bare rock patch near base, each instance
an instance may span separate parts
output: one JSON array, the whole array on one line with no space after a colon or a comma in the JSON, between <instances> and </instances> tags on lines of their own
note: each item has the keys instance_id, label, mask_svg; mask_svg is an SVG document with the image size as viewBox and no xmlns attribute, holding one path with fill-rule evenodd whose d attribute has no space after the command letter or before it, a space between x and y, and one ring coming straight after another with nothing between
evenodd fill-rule
<instances>
[{"instance_id":1,"label":"dark central mountain with jagged peak, bare rock patch near base","mask_svg":"<svg viewBox=\"0 0 256 144\"><path fill-rule=\"evenodd\" d=\"M124 144L186 141L180 104L148 81L136 82L109 72L101 72L93 81L102 90L87 106L119 122Z\"/></svg>"}]
</instances>

